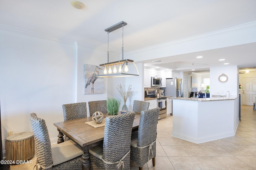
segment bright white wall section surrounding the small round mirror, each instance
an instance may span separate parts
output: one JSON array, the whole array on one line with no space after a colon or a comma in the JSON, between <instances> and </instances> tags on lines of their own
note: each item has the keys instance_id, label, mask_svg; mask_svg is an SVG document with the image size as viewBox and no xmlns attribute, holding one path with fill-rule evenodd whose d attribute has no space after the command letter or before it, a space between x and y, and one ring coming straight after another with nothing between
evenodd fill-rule
<instances>
[{"instance_id":1,"label":"bright white wall section surrounding the small round mirror","mask_svg":"<svg viewBox=\"0 0 256 170\"><path fill-rule=\"evenodd\" d=\"M239 68L238 66L210 67L210 95L239 95ZM228 81L220 82L218 77L222 74L228 76Z\"/></svg>"}]
</instances>

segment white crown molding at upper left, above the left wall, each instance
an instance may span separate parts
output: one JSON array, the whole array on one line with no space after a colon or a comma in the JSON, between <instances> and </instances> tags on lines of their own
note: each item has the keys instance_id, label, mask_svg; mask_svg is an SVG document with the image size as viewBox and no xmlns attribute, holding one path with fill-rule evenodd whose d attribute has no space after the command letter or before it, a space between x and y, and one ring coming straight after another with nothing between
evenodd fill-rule
<instances>
[{"instance_id":1,"label":"white crown molding at upper left, above the left wall","mask_svg":"<svg viewBox=\"0 0 256 170\"><path fill-rule=\"evenodd\" d=\"M49 36L49 35L35 33L35 32L32 32L32 31L19 29L19 28L16 28L16 27L10 27L10 26L7 26L7 25L0 24L0 30L8 31L8 32L16 33L16 34L20 34L20 35L26 35L26 36L29 36L29 37L35 37L35 38L47 39L47 40L53 40L53 41L60 41L60 42L63 42L63 43L68 43L68 44L73 44L74 45L74 42L72 42L72 41L59 39L59 38L52 37L52 36Z\"/></svg>"}]
</instances>

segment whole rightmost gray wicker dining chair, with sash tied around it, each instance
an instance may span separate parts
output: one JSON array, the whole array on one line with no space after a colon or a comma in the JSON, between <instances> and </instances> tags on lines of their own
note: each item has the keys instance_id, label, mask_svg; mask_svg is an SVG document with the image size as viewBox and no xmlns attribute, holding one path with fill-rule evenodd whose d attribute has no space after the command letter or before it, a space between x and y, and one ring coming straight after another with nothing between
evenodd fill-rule
<instances>
[{"instance_id":1,"label":"whole rightmost gray wicker dining chair, with sash tied around it","mask_svg":"<svg viewBox=\"0 0 256 170\"><path fill-rule=\"evenodd\" d=\"M156 164L156 128L160 107L142 111L138 131L132 133L130 159L142 166L152 159L153 166ZM151 149L152 148L152 149Z\"/></svg>"}]
</instances>

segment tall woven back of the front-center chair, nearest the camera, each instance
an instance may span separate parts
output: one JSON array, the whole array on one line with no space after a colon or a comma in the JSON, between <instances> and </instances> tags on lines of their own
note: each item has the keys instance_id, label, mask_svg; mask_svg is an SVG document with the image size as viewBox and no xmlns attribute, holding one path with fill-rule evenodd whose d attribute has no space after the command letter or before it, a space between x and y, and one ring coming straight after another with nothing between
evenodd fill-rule
<instances>
[{"instance_id":1,"label":"tall woven back of the front-center chair, nearest the camera","mask_svg":"<svg viewBox=\"0 0 256 170\"><path fill-rule=\"evenodd\" d=\"M103 159L108 162L116 162L130 151L132 124L135 112L106 117ZM124 160L125 167L130 168L130 152ZM109 165L107 169L112 169Z\"/></svg>"}]
</instances>

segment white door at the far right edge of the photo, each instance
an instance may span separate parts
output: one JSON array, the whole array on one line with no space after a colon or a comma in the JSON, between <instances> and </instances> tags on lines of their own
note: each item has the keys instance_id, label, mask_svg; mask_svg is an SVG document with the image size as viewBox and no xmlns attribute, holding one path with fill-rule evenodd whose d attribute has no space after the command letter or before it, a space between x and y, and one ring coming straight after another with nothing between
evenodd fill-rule
<instances>
[{"instance_id":1,"label":"white door at the far right edge of the photo","mask_svg":"<svg viewBox=\"0 0 256 170\"><path fill-rule=\"evenodd\" d=\"M243 104L253 105L256 96L256 78L243 78Z\"/></svg>"}]
</instances>

